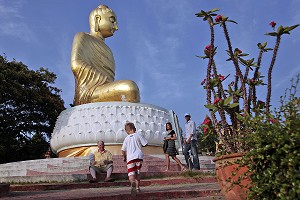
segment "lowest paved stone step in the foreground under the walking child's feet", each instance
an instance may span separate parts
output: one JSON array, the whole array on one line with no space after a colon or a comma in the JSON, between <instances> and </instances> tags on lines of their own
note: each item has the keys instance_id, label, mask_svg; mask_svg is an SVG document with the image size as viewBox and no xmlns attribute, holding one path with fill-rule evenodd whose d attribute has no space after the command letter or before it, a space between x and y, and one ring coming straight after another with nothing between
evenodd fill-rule
<instances>
[{"instance_id":1,"label":"lowest paved stone step in the foreground under the walking child's feet","mask_svg":"<svg viewBox=\"0 0 300 200\"><path fill-rule=\"evenodd\" d=\"M48 191L15 191L1 200L28 200L28 199L45 199L45 200L125 200L125 199L178 199L178 198L196 198L207 197L219 199L219 186L217 183L192 183L176 185L152 185L141 187L142 192L136 197L132 197L129 187L103 187L74 190L48 190ZM205 198L204 198L205 199ZM206 200L205 199L205 200ZM222 199L222 198L221 198Z\"/></svg>"}]
</instances>

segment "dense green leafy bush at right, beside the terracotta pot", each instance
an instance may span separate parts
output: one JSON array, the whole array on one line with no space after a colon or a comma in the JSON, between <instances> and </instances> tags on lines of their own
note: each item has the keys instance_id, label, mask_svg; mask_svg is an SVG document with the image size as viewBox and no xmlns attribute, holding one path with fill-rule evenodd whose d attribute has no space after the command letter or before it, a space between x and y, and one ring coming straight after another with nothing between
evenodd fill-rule
<instances>
[{"instance_id":1,"label":"dense green leafy bush at right, beside the terracotta pot","mask_svg":"<svg viewBox=\"0 0 300 200\"><path fill-rule=\"evenodd\" d=\"M296 85L274 114L258 115L248 125L251 150L244 158L251 174L250 199L300 199L300 100ZM250 120L250 118L246 119Z\"/></svg>"}]
</instances>

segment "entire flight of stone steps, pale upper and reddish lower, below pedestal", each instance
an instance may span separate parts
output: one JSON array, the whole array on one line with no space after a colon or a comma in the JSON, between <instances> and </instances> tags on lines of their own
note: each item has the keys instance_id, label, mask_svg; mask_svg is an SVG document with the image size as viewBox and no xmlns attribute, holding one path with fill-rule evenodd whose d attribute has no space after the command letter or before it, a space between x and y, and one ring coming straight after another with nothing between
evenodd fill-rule
<instances>
[{"instance_id":1,"label":"entire flight of stone steps, pale upper and reddish lower, below pedestal","mask_svg":"<svg viewBox=\"0 0 300 200\"><path fill-rule=\"evenodd\" d=\"M185 163L184 157L178 158ZM10 183L9 193L3 189L3 199L224 199L213 172L213 157L200 156L200 171L180 171L171 159L170 171L165 172L164 155L145 155L141 170L142 193L130 195L126 163L113 156L115 182L88 183L88 157L29 160L0 165L0 183ZM189 174L193 174L190 177ZM3 185L4 188L5 185ZM1 191L0 191L1 197ZM2 199L1 198L1 199Z\"/></svg>"}]
</instances>

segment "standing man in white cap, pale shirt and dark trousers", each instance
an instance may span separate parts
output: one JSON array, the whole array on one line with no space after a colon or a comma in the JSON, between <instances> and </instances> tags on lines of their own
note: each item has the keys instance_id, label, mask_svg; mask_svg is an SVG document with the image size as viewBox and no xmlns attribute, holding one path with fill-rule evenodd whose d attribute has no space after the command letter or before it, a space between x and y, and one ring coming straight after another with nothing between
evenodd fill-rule
<instances>
[{"instance_id":1,"label":"standing man in white cap, pale shirt and dark trousers","mask_svg":"<svg viewBox=\"0 0 300 200\"><path fill-rule=\"evenodd\" d=\"M185 135L183 136L183 144L184 144L184 157L186 164L190 169L200 170L199 157L198 157L198 149L197 149L197 133L196 133L196 124L191 120L191 115L189 113L185 113L184 115L186 123L185 123ZM190 160L189 150L191 150L193 161Z\"/></svg>"}]
</instances>

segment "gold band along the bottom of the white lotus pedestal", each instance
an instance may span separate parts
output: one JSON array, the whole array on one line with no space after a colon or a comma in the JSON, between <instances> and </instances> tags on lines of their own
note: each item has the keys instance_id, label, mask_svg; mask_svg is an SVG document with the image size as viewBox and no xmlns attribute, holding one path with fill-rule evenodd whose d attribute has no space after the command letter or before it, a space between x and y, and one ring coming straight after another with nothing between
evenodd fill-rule
<instances>
[{"instance_id":1,"label":"gold band along the bottom of the white lotus pedestal","mask_svg":"<svg viewBox=\"0 0 300 200\"><path fill-rule=\"evenodd\" d=\"M113 155L122 155L121 145L105 146L105 149L110 151ZM58 152L58 157L79 157L88 156L91 152L97 151L97 146L76 147ZM164 154L162 147L146 146L143 147L144 154Z\"/></svg>"}]
</instances>

